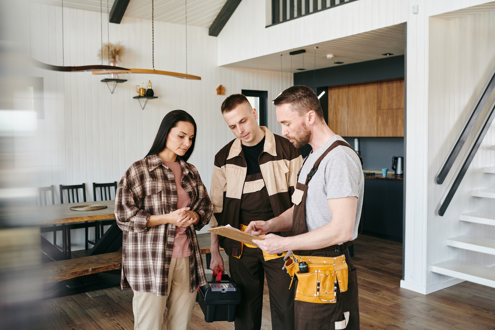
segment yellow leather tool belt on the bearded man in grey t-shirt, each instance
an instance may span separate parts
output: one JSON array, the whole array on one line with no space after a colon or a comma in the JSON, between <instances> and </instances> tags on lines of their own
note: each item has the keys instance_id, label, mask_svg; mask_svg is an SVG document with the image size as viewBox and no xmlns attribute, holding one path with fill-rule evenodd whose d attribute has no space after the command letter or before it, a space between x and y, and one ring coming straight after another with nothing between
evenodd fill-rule
<instances>
[{"instance_id":1,"label":"yellow leather tool belt on the bearded man in grey t-shirt","mask_svg":"<svg viewBox=\"0 0 495 330\"><path fill-rule=\"evenodd\" d=\"M308 265L307 273L299 272L301 261ZM294 255L286 260L285 268L293 280L294 275L297 276L295 300L318 304L335 303L337 290L347 291L348 267L345 255L334 258Z\"/></svg>"}]
</instances>

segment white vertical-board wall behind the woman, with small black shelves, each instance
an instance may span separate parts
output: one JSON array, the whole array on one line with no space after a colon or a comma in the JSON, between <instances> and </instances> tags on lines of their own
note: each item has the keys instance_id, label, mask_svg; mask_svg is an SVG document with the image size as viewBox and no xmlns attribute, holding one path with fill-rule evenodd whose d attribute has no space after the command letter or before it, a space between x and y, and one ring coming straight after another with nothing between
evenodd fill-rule
<instances>
[{"instance_id":1,"label":"white vertical-board wall behind the woman, with small black shelves","mask_svg":"<svg viewBox=\"0 0 495 330\"><path fill-rule=\"evenodd\" d=\"M32 3L33 57L62 65L61 7ZM103 15L106 42L106 15ZM122 41L127 52L122 66L151 68L151 21L124 17L110 24L110 41ZM185 72L185 26L155 21L155 68ZM64 8L65 65L99 64L99 12ZM220 113L230 94L242 89L268 91L271 101L292 85L292 74L217 66L217 38L208 29L188 26L188 73L201 76L190 81L160 75L122 74L114 94L90 72L61 73L35 69L44 78L45 119L39 120L39 186L85 182L87 200L93 200L92 182L119 181L124 171L143 158L151 146L163 116L175 109L190 112L198 124L196 149L190 162L197 166L209 190L215 153L235 136ZM106 64L106 60L103 63ZM158 99L141 110L135 85L151 80ZM218 96L215 88L226 87ZM268 103L268 126L280 134L275 107ZM82 236L74 241L82 242Z\"/></svg>"}]
</instances>

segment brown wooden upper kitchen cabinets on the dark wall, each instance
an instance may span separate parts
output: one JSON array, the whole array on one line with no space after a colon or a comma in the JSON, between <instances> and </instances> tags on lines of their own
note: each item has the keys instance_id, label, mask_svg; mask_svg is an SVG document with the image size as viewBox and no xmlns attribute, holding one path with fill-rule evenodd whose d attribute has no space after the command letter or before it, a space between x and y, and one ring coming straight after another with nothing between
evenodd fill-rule
<instances>
[{"instance_id":1,"label":"brown wooden upper kitchen cabinets on the dark wall","mask_svg":"<svg viewBox=\"0 0 495 330\"><path fill-rule=\"evenodd\" d=\"M341 136L404 136L404 80L330 87L328 125Z\"/></svg>"}]
</instances>

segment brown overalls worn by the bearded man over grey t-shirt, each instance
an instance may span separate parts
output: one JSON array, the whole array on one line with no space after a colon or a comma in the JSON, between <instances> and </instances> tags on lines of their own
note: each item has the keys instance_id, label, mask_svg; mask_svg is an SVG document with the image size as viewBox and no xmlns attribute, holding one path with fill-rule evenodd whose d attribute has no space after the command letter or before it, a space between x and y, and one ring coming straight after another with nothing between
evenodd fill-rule
<instances>
[{"instance_id":1,"label":"brown overalls worn by the bearded man over grey t-shirt","mask_svg":"<svg viewBox=\"0 0 495 330\"><path fill-rule=\"evenodd\" d=\"M308 190L308 183L311 177L318 169L323 158L335 147L346 146L351 148L344 141L335 141L314 163L313 168L309 171L305 184L297 182L296 189L302 191L302 198L298 205L294 205L293 229L292 235L299 235L307 232L305 221L305 202ZM352 148L351 148L352 149ZM359 157L360 158L360 157ZM362 160L361 160L362 165ZM300 171L299 171L300 173ZM297 193L296 190L296 193ZM359 306L358 306L358 290L357 290L357 275L352 259L350 259L347 248L352 244L352 241L345 242L341 245L332 245L326 248L310 251L293 251L299 256L319 256L319 257L338 257L343 254L346 256L348 265L348 287L347 291L340 292L336 290L335 303L310 303L295 300L295 322L296 330L314 330L314 329L359 329ZM296 276L294 276L296 279ZM293 285L297 285L295 282ZM347 326L345 325L345 314L348 313ZM344 322L342 322L344 321ZM336 328L337 326L337 328ZM345 327L345 328L342 328Z\"/></svg>"}]
</instances>

